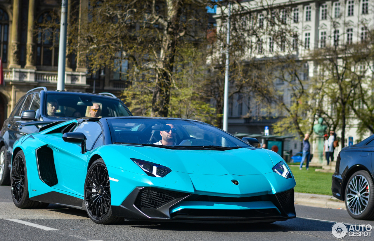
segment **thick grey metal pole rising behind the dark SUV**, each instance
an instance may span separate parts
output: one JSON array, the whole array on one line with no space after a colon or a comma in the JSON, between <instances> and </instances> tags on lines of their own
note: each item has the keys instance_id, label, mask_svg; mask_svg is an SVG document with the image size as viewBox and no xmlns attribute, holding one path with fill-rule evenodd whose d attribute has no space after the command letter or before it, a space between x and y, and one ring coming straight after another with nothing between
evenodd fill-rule
<instances>
[{"instance_id":1,"label":"thick grey metal pole rising behind the dark SUV","mask_svg":"<svg viewBox=\"0 0 374 241\"><path fill-rule=\"evenodd\" d=\"M59 43L59 50L58 50L57 90L65 90L67 8L68 8L68 0L62 0L60 43Z\"/></svg>"}]
</instances>

